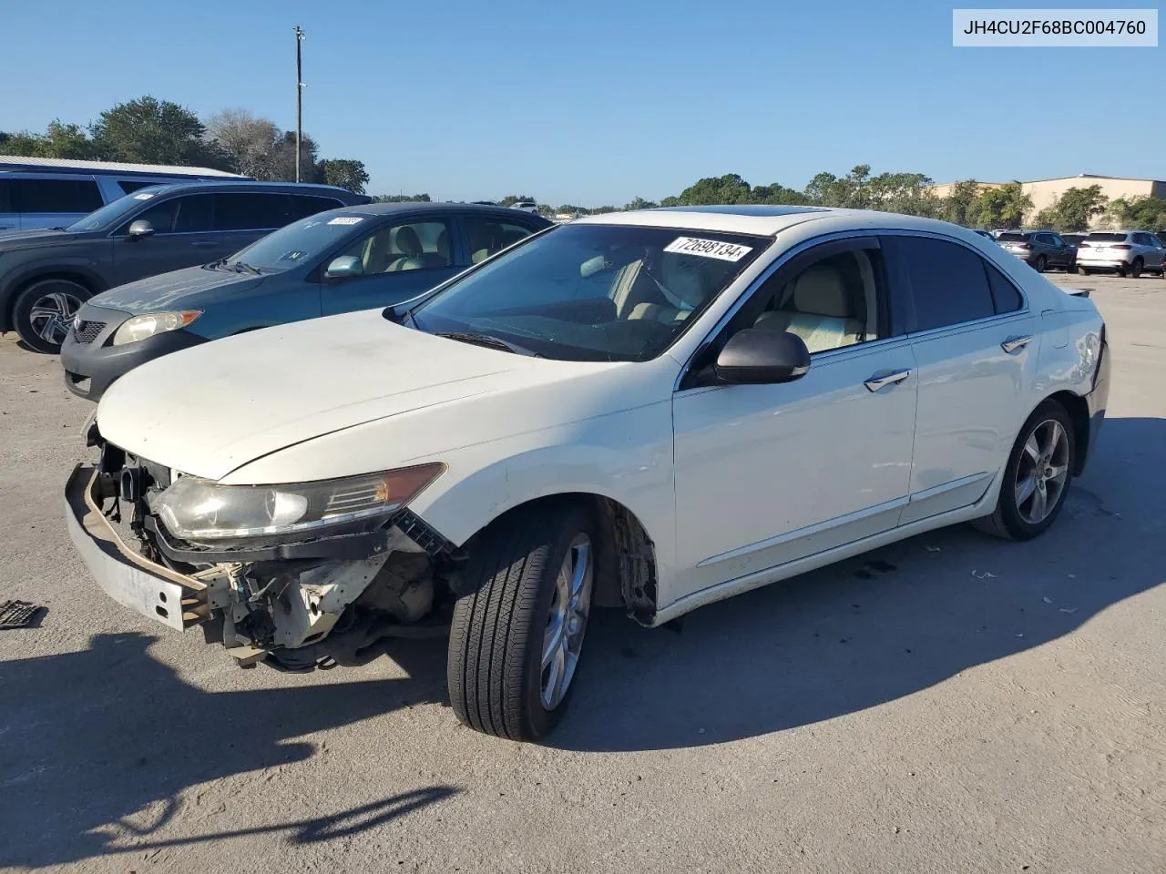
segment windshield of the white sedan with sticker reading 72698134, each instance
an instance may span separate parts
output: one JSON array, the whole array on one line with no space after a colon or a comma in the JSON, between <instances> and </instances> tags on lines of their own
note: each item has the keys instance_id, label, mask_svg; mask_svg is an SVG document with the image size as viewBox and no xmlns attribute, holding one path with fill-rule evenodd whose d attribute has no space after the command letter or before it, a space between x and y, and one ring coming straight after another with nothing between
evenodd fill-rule
<instances>
[{"instance_id":1,"label":"windshield of the white sedan with sticker reading 72698134","mask_svg":"<svg viewBox=\"0 0 1166 874\"><path fill-rule=\"evenodd\" d=\"M473 333L568 361L646 361L770 242L711 231L560 225L410 312L430 333Z\"/></svg>"}]
</instances>

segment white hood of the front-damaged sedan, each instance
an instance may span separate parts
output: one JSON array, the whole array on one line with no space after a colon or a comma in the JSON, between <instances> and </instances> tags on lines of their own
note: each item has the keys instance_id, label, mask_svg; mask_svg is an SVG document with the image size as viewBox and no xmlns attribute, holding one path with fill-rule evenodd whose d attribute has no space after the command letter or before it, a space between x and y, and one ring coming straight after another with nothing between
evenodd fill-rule
<instances>
[{"instance_id":1,"label":"white hood of the front-damaged sedan","mask_svg":"<svg viewBox=\"0 0 1166 874\"><path fill-rule=\"evenodd\" d=\"M354 425L625 366L472 346L366 310L164 355L114 382L97 421L106 439L134 454L222 479L257 458Z\"/></svg>"}]
</instances>

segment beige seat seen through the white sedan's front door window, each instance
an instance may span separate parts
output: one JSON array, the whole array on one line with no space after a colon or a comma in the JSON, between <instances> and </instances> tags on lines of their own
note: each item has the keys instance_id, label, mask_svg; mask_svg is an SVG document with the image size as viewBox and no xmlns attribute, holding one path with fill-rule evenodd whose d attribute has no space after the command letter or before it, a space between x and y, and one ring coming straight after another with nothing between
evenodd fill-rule
<instances>
[{"instance_id":1,"label":"beige seat seen through the white sedan's front door window","mask_svg":"<svg viewBox=\"0 0 1166 874\"><path fill-rule=\"evenodd\" d=\"M814 265L794 280L793 292L781 309L757 317L756 327L789 331L810 352L842 348L863 339L858 308L842 274L831 265Z\"/></svg>"}]
</instances>

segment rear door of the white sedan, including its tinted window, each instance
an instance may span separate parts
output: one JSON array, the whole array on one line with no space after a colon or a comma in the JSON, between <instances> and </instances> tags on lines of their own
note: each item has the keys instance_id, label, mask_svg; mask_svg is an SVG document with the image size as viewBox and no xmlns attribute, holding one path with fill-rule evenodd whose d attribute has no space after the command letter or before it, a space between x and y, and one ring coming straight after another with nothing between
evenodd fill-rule
<instances>
[{"instance_id":1,"label":"rear door of the white sedan, including its tinted window","mask_svg":"<svg viewBox=\"0 0 1166 874\"><path fill-rule=\"evenodd\" d=\"M1039 317L962 242L894 234L884 246L919 374L908 524L975 503L1004 465L1027 415Z\"/></svg>"}]
</instances>

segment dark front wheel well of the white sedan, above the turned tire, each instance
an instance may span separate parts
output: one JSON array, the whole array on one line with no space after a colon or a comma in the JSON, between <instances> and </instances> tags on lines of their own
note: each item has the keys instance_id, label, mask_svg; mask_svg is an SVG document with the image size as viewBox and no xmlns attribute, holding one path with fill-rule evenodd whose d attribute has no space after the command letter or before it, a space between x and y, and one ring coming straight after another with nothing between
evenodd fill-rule
<instances>
[{"instance_id":1,"label":"dark front wheel well of the white sedan, above the turned tire","mask_svg":"<svg viewBox=\"0 0 1166 874\"><path fill-rule=\"evenodd\" d=\"M619 501L590 492L547 495L512 507L491 521L489 527L533 506L549 508L564 502L582 503L596 521L600 537L596 547L596 605L621 606L637 622L652 625L656 612L655 544L635 514ZM483 526L483 530L485 528Z\"/></svg>"}]
</instances>

